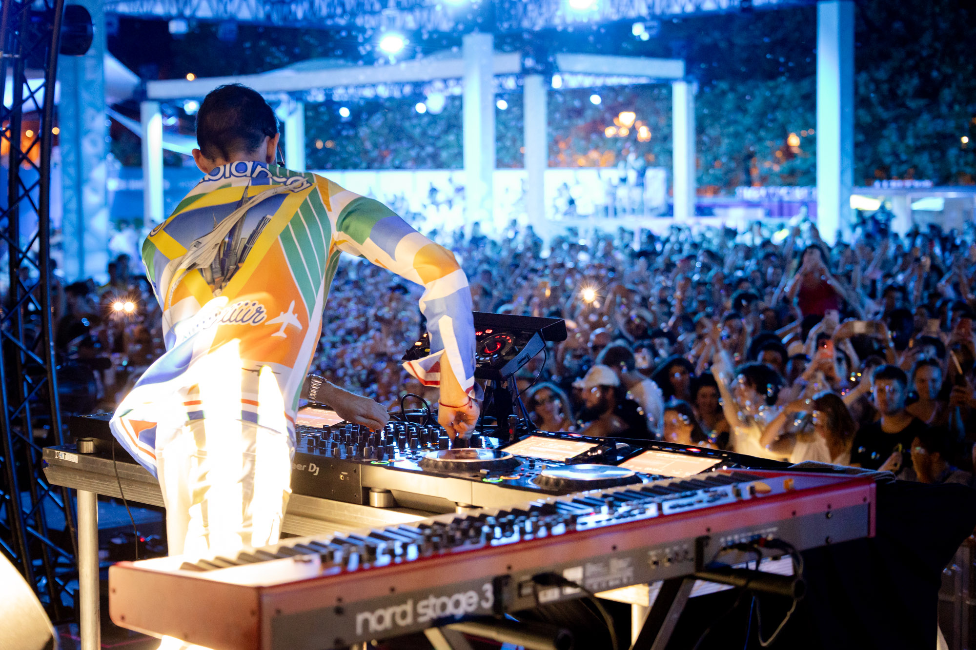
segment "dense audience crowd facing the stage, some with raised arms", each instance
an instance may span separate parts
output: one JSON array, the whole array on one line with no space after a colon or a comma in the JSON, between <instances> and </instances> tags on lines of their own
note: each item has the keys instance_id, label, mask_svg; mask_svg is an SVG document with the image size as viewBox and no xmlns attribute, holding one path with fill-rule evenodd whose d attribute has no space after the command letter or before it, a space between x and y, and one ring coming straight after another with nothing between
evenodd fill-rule
<instances>
[{"instance_id":1,"label":"dense audience crowd facing the stage, some with raised arms","mask_svg":"<svg viewBox=\"0 0 976 650\"><path fill-rule=\"evenodd\" d=\"M475 310L565 320L567 339L516 376L536 427L973 480L976 228L900 237L869 220L834 246L809 223L674 225L639 247L623 229L428 234L457 255ZM113 408L161 352L137 270L120 256L107 284L56 292L68 410ZM431 401L400 364L424 331L421 292L347 258L310 372L390 409Z\"/></svg>"}]
</instances>

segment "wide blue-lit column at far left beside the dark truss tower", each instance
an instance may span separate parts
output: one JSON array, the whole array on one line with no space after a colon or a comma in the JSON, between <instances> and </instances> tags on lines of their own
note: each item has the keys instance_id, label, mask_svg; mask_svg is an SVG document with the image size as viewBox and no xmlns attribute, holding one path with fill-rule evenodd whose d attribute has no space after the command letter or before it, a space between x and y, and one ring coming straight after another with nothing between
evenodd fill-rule
<instances>
[{"instance_id":1,"label":"wide blue-lit column at far left beside the dark truss tower","mask_svg":"<svg viewBox=\"0 0 976 650\"><path fill-rule=\"evenodd\" d=\"M59 57L62 268L69 281L105 277L108 208L105 188L105 13L102 0L72 0L92 15L95 37L81 57Z\"/></svg>"}]
</instances>

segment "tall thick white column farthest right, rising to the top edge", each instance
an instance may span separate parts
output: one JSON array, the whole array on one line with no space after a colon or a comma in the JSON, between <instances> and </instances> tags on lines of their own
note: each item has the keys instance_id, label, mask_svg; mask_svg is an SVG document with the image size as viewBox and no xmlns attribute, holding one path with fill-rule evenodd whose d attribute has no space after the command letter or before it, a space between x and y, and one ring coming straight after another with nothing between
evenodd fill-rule
<instances>
[{"instance_id":1,"label":"tall thick white column farthest right, rising to the top edge","mask_svg":"<svg viewBox=\"0 0 976 650\"><path fill-rule=\"evenodd\" d=\"M833 244L854 187L854 3L817 3L817 227Z\"/></svg>"}]
</instances>

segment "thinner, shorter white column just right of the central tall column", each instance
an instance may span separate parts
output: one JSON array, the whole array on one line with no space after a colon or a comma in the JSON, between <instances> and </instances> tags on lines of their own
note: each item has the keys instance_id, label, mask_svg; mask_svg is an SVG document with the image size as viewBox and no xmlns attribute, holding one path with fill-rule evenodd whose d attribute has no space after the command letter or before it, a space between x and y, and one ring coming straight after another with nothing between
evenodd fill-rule
<instances>
[{"instance_id":1,"label":"thinner, shorter white column just right of the central tall column","mask_svg":"<svg viewBox=\"0 0 976 650\"><path fill-rule=\"evenodd\" d=\"M546 221L546 169L549 167L549 81L526 75L522 87L525 126L525 214L527 223Z\"/></svg>"}]
</instances>

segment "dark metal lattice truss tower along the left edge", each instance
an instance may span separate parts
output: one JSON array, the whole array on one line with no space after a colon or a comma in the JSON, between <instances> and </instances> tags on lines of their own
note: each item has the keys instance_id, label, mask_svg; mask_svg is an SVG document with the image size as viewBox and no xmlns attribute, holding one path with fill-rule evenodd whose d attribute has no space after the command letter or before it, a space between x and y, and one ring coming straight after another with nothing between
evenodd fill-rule
<instances>
[{"instance_id":1,"label":"dark metal lattice truss tower along the left edge","mask_svg":"<svg viewBox=\"0 0 976 650\"><path fill-rule=\"evenodd\" d=\"M0 78L11 84L0 105L0 551L56 622L73 617L77 589L71 500L45 480L41 456L62 442L49 255L62 10L63 0L4 0L0 20Z\"/></svg>"}]
</instances>

